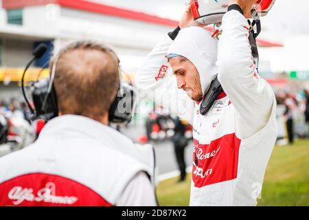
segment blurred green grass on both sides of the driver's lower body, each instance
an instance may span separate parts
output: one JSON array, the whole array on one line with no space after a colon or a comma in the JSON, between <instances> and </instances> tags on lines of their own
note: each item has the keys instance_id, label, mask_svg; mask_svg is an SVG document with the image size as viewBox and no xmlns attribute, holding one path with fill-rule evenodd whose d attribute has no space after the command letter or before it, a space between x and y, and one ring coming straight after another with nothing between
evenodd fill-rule
<instances>
[{"instance_id":1,"label":"blurred green grass on both sides of the driver's lower body","mask_svg":"<svg viewBox=\"0 0 309 220\"><path fill-rule=\"evenodd\" d=\"M191 175L161 181L157 188L160 206L188 206ZM309 206L309 140L275 146L266 169L258 206Z\"/></svg>"}]
</instances>

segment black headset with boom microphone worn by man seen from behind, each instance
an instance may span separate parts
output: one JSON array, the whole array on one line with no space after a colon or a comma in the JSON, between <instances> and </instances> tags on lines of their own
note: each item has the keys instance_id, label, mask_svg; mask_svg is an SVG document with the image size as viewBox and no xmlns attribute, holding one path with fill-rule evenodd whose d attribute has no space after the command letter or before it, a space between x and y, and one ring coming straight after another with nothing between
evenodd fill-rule
<instances>
[{"instance_id":1,"label":"black headset with boom microphone worn by man seen from behind","mask_svg":"<svg viewBox=\"0 0 309 220\"><path fill-rule=\"evenodd\" d=\"M80 41L83 43L84 41ZM56 65L58 61L58 56L56 56L52 70L50 73L49 78L44 78L41 80L36 80L36 82L30 82L31 93L32 93L32 100L34 104L34 109L30 105L30 102L27 100L27 96L25 94L25 85L24 85L24 78L27 69L30 65L38 58L41 58L43 54L45 54L47 47L45 44L38 45L33 52L33 56L25 70L23 72L23 77L21 79L21 89L23 92L23 97L25 98L25 102L29 107L32 113L32 121L43 119L45 122L51 120L58 116L58 104L57 104L57 96L56 96L56 89L54 88L54 77L56 74ZM111 50L111 49L109 49ZM113 52L113 50L111 50ZM115 52L113 52L115 54ZM117 55L115 54L117 57ZM118 57L117 57L118 58ZM119 59L118 59L119 61ZM119 69L119 78L120 78L120 69ZM102 94L103 96L103 94ZM126 83L121 83L119 80L119 86L117 90L117 94L115 99L113 100L111 107L108 111L108 120L111 123L128 123L132 120L133 112L135 109L135 89L133 86L128 85Z\"/></svg>"}]
</instances>

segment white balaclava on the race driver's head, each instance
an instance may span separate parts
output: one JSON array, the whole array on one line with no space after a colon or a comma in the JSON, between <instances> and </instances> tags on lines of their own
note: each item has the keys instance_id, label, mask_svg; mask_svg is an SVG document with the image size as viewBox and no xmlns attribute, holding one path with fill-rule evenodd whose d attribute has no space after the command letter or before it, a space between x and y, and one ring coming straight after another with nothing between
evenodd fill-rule
<instances>
[{"instance_id":1,"label":"white balaclava on the race driver's head","mask_svg":"<svg viewBox=\"0 0 309 220\"><path fill-rule=\"evenodd\" d=\"M190 27L179 32L173 41L169 55L181 55L191 61L200 74L203 96L211 80L218 74L216 67L218 41L204 28Z\"/></svg>"}]
</instances>

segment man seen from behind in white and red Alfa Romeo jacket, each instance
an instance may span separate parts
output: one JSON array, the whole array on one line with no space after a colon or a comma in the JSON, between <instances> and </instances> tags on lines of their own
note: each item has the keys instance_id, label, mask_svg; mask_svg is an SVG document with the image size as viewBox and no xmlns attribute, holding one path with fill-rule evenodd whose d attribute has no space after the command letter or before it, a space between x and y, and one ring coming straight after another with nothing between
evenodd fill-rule
<instances>
[{"instance_id":1,"label":"man seen from behind in white and red Alfa Romeo jacket","mask_svg":"<svg viewBox=\"0 0 309 220\"><path fill-rule=\"evenodd\" d=\"M51 67L58 117L34 144L0 158L0 206L155 206L144 163L151 156L108 126L119 88L115 53L72 43Z\"/></svg>"}]
</instances>

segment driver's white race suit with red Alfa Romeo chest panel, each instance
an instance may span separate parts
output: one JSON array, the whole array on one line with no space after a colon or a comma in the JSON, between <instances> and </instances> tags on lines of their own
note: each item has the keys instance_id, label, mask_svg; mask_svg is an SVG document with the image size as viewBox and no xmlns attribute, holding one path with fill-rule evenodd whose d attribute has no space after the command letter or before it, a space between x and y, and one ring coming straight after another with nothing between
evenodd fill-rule
<instances>
[{"instance_id":1,"label":"driver's white race suit with red Alfa Romeo chest panel","mask_svg":"<svg viewBox=\"0 0 309 220\"><path fill-rule=\"evenodd\" d=\"M255 206L262 190L277 136L276 102L255 68L248 37L244 16L227 12L217 61L224 92L205 115L199 113L201 103L176 87L166 58L173 42L168 35L137 73L139 89L193 124L191 206Z\"/></svg>"}]
</instances>

